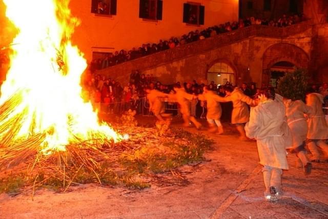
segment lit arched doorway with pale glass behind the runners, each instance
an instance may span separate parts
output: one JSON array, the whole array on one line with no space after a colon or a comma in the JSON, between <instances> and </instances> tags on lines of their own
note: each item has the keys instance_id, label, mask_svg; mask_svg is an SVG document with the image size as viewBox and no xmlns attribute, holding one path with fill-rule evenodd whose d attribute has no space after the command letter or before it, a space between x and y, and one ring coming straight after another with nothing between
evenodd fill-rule
<instances>
[{"instance_id":1,"label":"lit arched doorway with pale glass behind the runners","mask_svg":"<svg viewBox=\"0 0 328 219\"><path fill-rule=\"evenodd\" d=\"M225 62L217 62L207 72L208 82L214 81L217 86L225 85L227 82L234 84L235 71Z\"/></svg>"}]
</instances>

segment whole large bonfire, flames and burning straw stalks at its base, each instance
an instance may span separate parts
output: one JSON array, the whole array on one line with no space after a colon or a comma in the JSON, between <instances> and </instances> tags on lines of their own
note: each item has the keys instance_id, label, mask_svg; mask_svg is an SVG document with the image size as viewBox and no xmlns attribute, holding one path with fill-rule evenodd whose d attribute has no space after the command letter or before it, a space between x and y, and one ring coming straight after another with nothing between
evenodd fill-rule
<instances>
[{"instance_id":1,"label":"whole large bonfire, flames and burning straw stalks at its base","mask_svg":"<svg viewBox=\"0 0 328 219\"><path fill-rule=\"evenodd\" d=\"M32 155L77 154L120 141L81 98L80 76L87 64L71 44L78 20L71 16L69 1L3 1L18 34L1 87L0 169ZM85 165L95 164L79 157Z\"/></svg>"}]
</instances>

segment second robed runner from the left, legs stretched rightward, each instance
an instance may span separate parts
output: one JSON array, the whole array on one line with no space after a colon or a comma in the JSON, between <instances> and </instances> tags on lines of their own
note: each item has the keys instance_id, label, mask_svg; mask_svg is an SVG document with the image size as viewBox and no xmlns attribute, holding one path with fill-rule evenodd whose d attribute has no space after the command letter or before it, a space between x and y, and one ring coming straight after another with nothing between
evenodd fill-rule
<instances>
[{"instance_id":1,"label":"second robed runner from the left, legs stretched rightward","mask_svg":"<svg viewBox=\"0 0 328 219\"><path fill-rule=\"evenodd\" d=\"M193 94L189 94L186 92L185 88L181 88L178 84L174 86L175 94L171 94L170 98L175 99L180 105L180 112L183 118L183 126L189 127L190 122L192 122L197 129L201 127L201 124L196 120L194 116L191 115L191 101L194 98L197 98Z\"/></svg>"}]
</instances>

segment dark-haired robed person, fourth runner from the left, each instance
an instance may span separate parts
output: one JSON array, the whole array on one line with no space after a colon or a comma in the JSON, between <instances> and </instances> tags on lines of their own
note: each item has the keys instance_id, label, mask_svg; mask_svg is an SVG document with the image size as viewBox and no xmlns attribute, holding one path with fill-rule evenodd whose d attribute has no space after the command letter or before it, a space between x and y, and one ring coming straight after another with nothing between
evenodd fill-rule
<instances>
[{"instance_id":1,"label":"dark-haired robed person, fourth runner from the left","mask_svg":"<svg viewBox=\"0 0 328 219\"><path fill-rule=\"evenodd\" d=\"M236 125L239 132L239 139L242 141L248 140L245 135L244 126L250 119L249 106L255 106L256 101L249 96L245 95L239 88L233 88L228 85L224 87L227 97L224 97L221 102L232 101L233 110L231 114L231 123Z\"/></svg>"}]
</instances>

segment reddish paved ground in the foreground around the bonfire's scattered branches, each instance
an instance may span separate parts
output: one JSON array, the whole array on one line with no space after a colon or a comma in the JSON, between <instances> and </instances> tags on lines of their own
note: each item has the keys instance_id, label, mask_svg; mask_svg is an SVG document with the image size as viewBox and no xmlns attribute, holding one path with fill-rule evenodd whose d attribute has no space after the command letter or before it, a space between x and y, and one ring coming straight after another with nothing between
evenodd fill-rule
<instances>
[{"instance_id":1,"label":"reddish paved ground in the foreground around the bonfire's scattered branches","mask_svg":"<svg viewBox=\"0 0 328 219\"><path fill-rule=\"evenodd\" d=\"M255 142L226 134L204 134L217 144L207 162L180 168L186 181L146 190L75 187L69 193L40 190L31 195L0 195L0 218L328 218L328 163L314 164L305 177L289 156L283 173L284 197L263 199L264 185ZM193 128L190 131L195 131Z\"/></svg>"}]
</instances>

